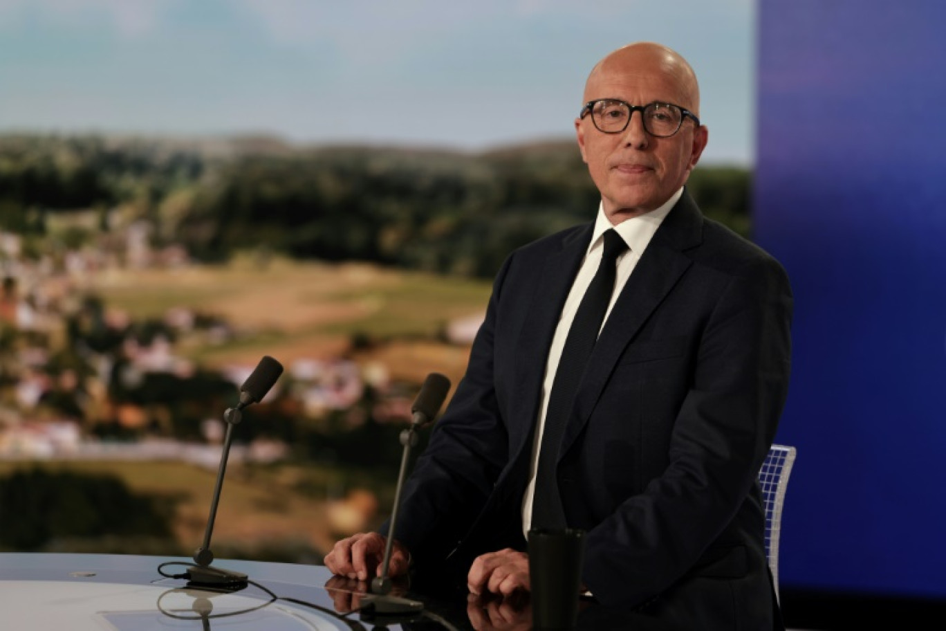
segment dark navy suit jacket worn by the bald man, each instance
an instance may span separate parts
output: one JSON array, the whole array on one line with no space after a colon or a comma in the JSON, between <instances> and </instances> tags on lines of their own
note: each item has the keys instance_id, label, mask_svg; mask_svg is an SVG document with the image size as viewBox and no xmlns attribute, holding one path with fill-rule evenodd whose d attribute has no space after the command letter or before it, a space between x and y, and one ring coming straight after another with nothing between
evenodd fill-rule
<instances>
[{"instance_id":1,"label":"dark navy suit jacket worn by the bald man","mask_svg":"<svg viewBox=\"0 0 946 631\"><path fill-rule=\"evenodd\" d=\"M496 277L403 492L395 536L420 574L464 581L477 555L523 549L543 373L592 227L518 249ZM756 479L787 394L791 314L780 264L685 191L604 324L559 454L569 526L588 532L583 580L604 605L675 600L702 628L772 628Z\"/></svg>"}]
</instances>

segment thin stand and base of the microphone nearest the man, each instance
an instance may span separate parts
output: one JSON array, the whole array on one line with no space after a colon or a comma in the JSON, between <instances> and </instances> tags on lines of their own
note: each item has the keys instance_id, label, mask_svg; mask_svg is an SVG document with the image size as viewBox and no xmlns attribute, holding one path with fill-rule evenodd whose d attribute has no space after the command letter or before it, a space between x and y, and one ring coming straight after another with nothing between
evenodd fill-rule
<instances>
[{"instance_id":1,"label":"thin stand and base of the microphone nearest the man","mask_svg":"<svg viewBox=\"0 0 946 631\"><path fill-rule=\"evenodd\" d=\"M404 447L401 454L401 468L397 474L397 486L394 489L394 511L388 528L388 540L384 546L384 559L381 562L381 575L371 581L371 593L361 599L361 619L367 622L412 622L424 612L424 604L408 598L391 595L391 577L388 568L391 565L391 552L394 548L394 526L397 524L398 507L401 505L401 487L407 474L411 447L417 445L417 429L422 425L415 417L409 429L400 434L400 443Z\"/></svg>"}]
</instances>

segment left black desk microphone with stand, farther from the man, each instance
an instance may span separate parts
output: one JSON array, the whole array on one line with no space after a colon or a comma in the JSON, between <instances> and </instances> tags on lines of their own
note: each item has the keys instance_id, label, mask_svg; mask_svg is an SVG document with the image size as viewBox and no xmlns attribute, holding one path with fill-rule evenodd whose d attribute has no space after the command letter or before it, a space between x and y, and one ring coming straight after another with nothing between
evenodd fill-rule
<instances>
[{"instance_id":1,"label":"left black desk microphone with stand, farther from the man","mask_svg":"<svg viewBox=\"0 0 946 631\"><path fill-rule=\"evenodd\" d=\"M214 553L210 552L210 537L214 533L214 520L217 518L217 504L220 500L220 488L223 486L223 474L227 470L227 458L230 455L230 443L233 440L234 426L242 419L243 408L259 403L266 396L273 384L283 374L283 365L265 356L256 364L253 373L246 378L239 388L239 403L236 408L228 408L223 412L223 420L227 422L227 432L223 438L223 450L220 453L220 466L217 471L217 485L214 487L214 497L210 502L210 517L207 518L207 530L203 535L203 545L194 552L194 561L197 566L188 569L188 578L194 585L214 585L229 587L245 587L247 575L240 571L221 570L210 564L214 561Z\"/></svg>"}]
</instances>

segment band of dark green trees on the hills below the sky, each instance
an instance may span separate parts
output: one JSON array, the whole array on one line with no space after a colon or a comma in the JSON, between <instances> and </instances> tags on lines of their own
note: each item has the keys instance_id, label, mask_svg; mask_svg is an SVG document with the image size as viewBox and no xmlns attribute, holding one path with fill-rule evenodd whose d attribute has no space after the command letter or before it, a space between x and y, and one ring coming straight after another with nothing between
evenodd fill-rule
<instances>
[{"instance_id":1,"label":"band of dark green trees on the hills below the sky","mask_svg":"<svg viewBox=\"0 0 946 631\"><path fill-rule=\"evenodd\" d=\"M698 167L710 217L748 234L750 174ZM571 141L464 153L279 144L0 138L0 227L43 233L79 209L199 260L238 251L491 277L512 249L587 221L598 193ZM61 237L62 238L62 237Z\"/></svg>"}]
</instances>

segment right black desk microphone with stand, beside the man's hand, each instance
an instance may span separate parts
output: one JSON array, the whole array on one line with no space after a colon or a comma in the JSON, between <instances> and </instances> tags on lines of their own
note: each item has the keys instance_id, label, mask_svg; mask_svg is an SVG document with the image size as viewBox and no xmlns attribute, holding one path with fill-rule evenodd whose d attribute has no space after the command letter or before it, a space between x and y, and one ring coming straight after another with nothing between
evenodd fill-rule
<instances>
[{"instance_id":1,"label":"right black desk microphone with stand, beside the man's hand","mask_svg":"<svg viewBox=\"0 0 946 631\"><path fill-rule=\"evenodd\" d=\"M417 444L416 432L437 416L437 412L440 412L440 407L444 404L444 399L447 398L449 390L450 380L447 377L440 373L430 373L427 379L424 380L420 393L417 394L417 398L414 399L411 406L411 427L401 431L400 442L404 446L404 452L401 456L401 469L397 475L397 487L394 489L394 509L391 513L388 537L384 546L381 575L372 580L372 593L361 600L362 617L366 620L375 620L377 615L392 616L394 618L412 616L424 610L423 603L389 595L391 592L391 577L388 576L388 569L391 565L391 551L394 547L394 527L397 524L397 511L401 503L401 487L404 485L411 447Z\"/></svg>"}]
</instances>

